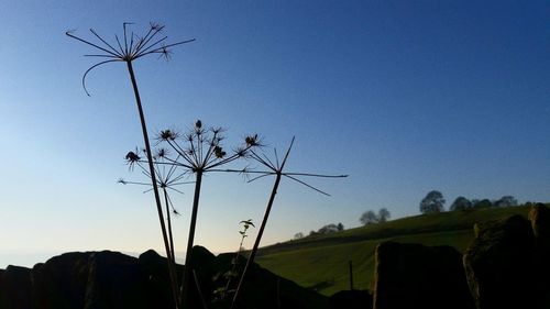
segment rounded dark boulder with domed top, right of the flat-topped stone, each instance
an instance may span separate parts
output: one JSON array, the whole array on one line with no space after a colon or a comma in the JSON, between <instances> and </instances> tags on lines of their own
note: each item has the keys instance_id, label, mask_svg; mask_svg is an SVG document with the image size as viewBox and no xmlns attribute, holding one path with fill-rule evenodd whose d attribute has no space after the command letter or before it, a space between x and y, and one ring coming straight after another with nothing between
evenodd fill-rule
<instances>
[{"instance_id":1,"label":"rounded dark boulder with domed top, right of the flat-topped stone","mask_svg":"<svg viewBox=\"0 0 550 309\"><path fill-rule=\"evenodd\" d=\"M477 224L464 254L470 290L479 309L535 308L534 233L521 216Z\"/></svg>"}]
</instances>

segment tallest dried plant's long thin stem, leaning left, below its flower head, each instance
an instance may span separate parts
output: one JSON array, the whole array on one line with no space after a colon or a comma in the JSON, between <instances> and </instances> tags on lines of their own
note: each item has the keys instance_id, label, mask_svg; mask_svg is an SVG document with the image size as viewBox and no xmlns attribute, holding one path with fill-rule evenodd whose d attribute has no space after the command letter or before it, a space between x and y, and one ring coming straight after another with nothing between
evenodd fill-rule
<instances>
[{"instance_id":1,"label":"tallest dried plant's long thin stem, leaning left, below its flower head","mask_svg":"<svg viewBox=\"0 0 550 309\"><path fill-rule=\"evenodd\" d=\"M178 304L177 304L177 284L175 280L175 267L174 267L175 262L172 258L173 255L170 254L168 239L166 235L166 227L164 224L164 216L163 216L163 209L162 209L162 205L161 205L161 197L158 194L158 186L156 184L155 167L153 165L153 155L152 155L151 145L148 142L147 126L145 124L145 115L143 113L143 108L142 108L141 98L140 98L140 91L138 89L138 82L135 81L135 75L134 75L134 70L132 67L132 62L127 60L127 65L128 65L128 73L130 74L130 79L132 81L132 87L134 90L135 103L138 104L138 111L140 113L141 128L142 128L142 132L143 132L143 142L145 143L145 152L147 154L147 163L148 163L148 169L150 169L150 174L151 174L151 181L153 184L153 191L155 194L156 210L158 212L158 220L161 222L161 230L163 233L164 246L166 250L166 257L168 261L168 274L170 277L172 294L174 296L174 302L175 302L174 305L176 306L175 308L177 309Z\"/></svg>"}]
</instances>

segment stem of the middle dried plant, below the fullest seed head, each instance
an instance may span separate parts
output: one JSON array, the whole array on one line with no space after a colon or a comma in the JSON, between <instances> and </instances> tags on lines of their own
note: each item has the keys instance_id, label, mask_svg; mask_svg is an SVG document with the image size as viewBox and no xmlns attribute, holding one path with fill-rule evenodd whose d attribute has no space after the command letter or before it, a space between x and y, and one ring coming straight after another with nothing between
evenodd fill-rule
<instances>
[{"instance_id":1,"label":"stem of the middle dried plant, below the fullest seed head","mask_svg":"<svg viewBox=\"0 0 550 309\"><path fill-rule=\"evenodd\" d=\"M197 212L199 209L199 199L200 199L200 185L202 183L202 169L198 168L196 170L196 183L195 183L195 196L193 198L193 212L191 212L191 222L189 224L189 238L187 240L187 252L185 253L185 271L184 271L184 278L182 280L182 289L180 289L180 295L182 295L182 308L190 308L189 307L189 296L190 296L190 287L191 285L189 284L190 278L191 278L191 258L193 258L193 244L195 240L195 227L197 224Z\"/></svg>"}]
</instances>

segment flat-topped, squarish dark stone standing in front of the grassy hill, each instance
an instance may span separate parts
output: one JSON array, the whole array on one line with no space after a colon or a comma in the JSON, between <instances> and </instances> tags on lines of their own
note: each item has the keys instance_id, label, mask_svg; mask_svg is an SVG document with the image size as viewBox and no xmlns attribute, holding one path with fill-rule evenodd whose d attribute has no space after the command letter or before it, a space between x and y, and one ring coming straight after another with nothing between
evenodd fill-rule
<instances>
[{"instance_id":1,"label":"flat-topped, squarish dark stone standing in front of the grassy hill","mask_svg":"<svg viewBox=\"0 0 550 309\"><path fill-rule=\"evenodd\" d=\"M384 242L375 260L375 309L474 308L462 255L451 246Z\"/></svg>"}]
</instances>

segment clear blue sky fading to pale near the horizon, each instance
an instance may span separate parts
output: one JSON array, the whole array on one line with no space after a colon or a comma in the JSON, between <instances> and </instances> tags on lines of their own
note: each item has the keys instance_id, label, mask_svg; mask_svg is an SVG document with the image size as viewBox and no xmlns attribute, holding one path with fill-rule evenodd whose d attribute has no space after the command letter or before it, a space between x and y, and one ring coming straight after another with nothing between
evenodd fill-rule
<instances>
[{"instance_id":1,"label":"clear blue sky fading to pale near the horizon","mask_svg":"<svg viewBox=\"0 0 550 309\"><path fill-rule=\"evenodd\" d=\"M0 268L38 252L162 249L153 197L117 184L140 179L123 161L142 145L125 67L92 71L87 97L91 49L64 34L94 27L112 42L122 22L197 38L168 63L134 64L151 133L201 119L228 128L229 144L257 132L279 151L296 135L289 169L350 174L312 183L331 197L284 183L264 244L356 227L370 209L417 214L431 189L447 206L550 201L548 1L154 2L0 4ZM237 249L238 222L261 220L271 180L204 186L197 243Z\"/></svg>"}]
</instances>

